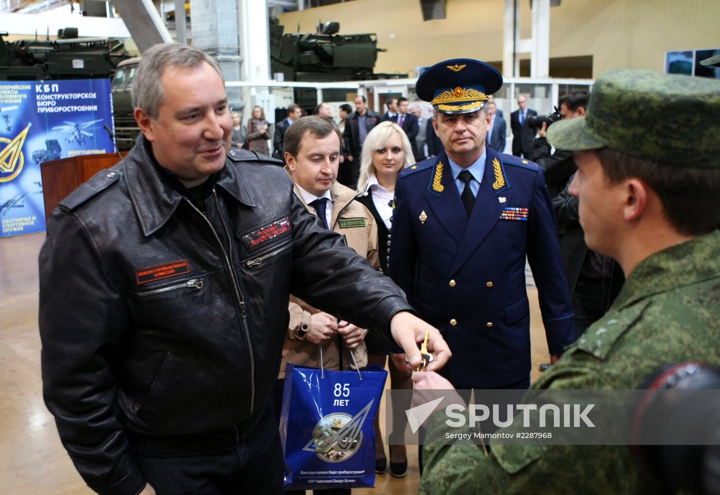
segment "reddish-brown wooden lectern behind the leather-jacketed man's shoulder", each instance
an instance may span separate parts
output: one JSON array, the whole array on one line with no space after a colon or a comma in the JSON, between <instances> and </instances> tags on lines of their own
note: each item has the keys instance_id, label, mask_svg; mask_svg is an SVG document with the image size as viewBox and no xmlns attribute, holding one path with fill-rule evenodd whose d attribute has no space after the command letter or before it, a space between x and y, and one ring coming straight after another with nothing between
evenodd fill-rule
<instances>
[{"instance_id":1,"label":"reddish-brown wooden lectern behind the leather-jacketed man's shoulder","mask_svg":"<svg viewBox=\"0 0 720 495\"><path fill-rule=\"evenodd\" d=\"M122 156L125 157L125 154L127 152ZM110 168L117 162L120 162L117 153L106 153L84 154L40 164L42 195L45 198L45 221L48 221L50 213L53 213L60 201L68 194L100 170Z\"/></svg>"}]
</instances>

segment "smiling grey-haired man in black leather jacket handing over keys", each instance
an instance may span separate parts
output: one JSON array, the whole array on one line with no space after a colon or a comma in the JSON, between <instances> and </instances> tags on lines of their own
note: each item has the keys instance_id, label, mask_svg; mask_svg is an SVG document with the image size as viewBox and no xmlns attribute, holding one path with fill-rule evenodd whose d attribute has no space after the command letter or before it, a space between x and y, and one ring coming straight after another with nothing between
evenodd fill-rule
<instances>
[{"instance_id":1,"label":"smiling grey-haired man in black leather jacket handing over keys","mask_svg":"<svg viewBox=\"0 0 720 495\"><path fill-rule=\"evenodd\" d=\"M99 493L280 493L266 405L290 292L390 331L415 366L426 330L433 367L449 350L390 279L307 213L274 159L230 149L215 61L158 45L132 91L138 143L48 222L45 402Z\"/></svg>"}]
</instances>

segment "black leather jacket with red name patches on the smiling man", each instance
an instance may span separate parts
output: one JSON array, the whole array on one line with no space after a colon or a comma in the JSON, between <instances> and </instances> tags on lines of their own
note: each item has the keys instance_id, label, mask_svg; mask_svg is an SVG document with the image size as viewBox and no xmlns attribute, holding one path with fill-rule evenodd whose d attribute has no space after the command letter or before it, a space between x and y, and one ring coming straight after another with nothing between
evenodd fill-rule
<instances>
[{"instance_id":1,"label":"black leather jacket with red name patches on the smiling man","mask_svg":"<svg viewBox=\"0 0 720 495\"><path fill-rule=\"evenodd\" d=\"M205 214L151 160L140 137L53 211L40 252L45 402L102 493L145 484L128 433L246 436L278 374L290 292L376 331L411 310L263 165L274 159L233 149Z\"/></svg>"}]
</instances>

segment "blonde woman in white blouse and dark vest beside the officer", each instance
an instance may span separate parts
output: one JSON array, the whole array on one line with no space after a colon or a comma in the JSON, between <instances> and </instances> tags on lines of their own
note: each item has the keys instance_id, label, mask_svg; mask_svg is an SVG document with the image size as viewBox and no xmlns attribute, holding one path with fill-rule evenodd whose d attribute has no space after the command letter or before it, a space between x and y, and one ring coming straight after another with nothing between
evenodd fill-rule
<instances>
[{"instance_id":1,"label":"blonde woman in white blouse and dark vest beside the officer","mask_svg":"<svg viewBox=\"0 0 720 495\"><path fill-rule=\"evenodd\" d=\"M415 164L413 148L402 128L386 121L375 126L365 138L360 162L357 200L372 213L377 223L378 254L380 269L387 272L387 258L390 249L390 226L392 225L392 197L395 194L395 182L400 170ZM387 355L391 359L390 386L392 389L412 389L413 381L410 373L405 371L405 354L400 348L380 336L368 333L365 337L368 352L368 365L385 366ZM408 404L410 407L410 404ZM403 410L408 407L394 407L399 412L396 425L402 424ZM387 425L388 428L391 425ZM402 435L402 433L398 432ZM402 441L397 438L397 443ZM375 417L375 471L384 473L387 469L387 458L380 435L379 417ZM408 472L408 454L405 445L390 445L390 473L402 478Z\"/></svg>"}]
</instances>

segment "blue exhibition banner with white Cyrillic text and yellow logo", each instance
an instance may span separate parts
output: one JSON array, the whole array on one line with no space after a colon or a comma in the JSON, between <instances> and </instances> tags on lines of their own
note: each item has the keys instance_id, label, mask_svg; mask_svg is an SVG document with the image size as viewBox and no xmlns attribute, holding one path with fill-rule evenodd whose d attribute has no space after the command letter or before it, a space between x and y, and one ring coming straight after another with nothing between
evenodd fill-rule
<instances>
[{"instance_id":1,"label":"blue exhibition banner with white Cyrillic text and yellow logo","mask_svg":"<svg viewBox=\"0 0 720 495\"><path fill-rule=\"evenodd\" d=\"M40 164L113 152L105 126L109 79L0 81L0 237L45 231Z\"/></svg>"}]
</instances>

